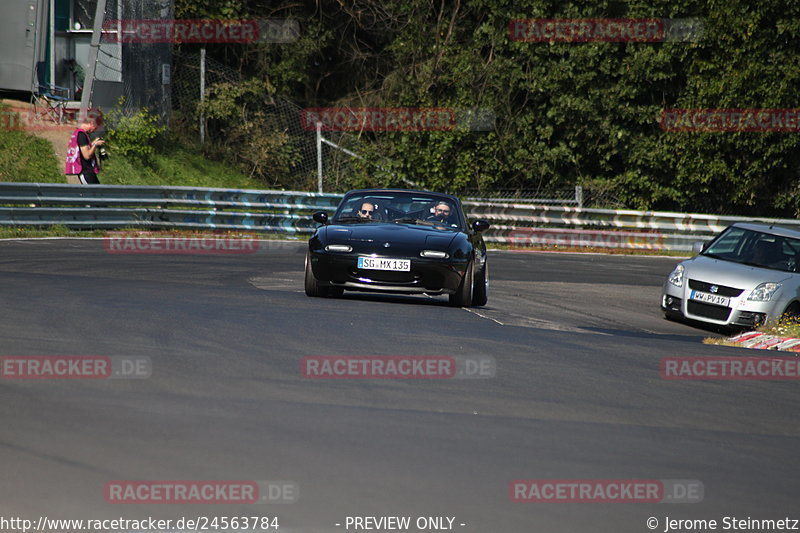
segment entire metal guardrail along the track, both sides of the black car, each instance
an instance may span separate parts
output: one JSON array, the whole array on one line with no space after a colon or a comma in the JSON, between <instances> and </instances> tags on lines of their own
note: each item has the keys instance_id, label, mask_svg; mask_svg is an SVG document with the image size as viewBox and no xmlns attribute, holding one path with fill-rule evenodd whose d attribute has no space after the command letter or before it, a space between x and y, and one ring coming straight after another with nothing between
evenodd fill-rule
<instances>
[{"instance_id":1,"label":"entire metal guardrail along the track, both sides of the black car","mask_svg":"<svg viewBox=\"0 0 800 533\"><path fill-rule=\"evenodd\" d=\"M343 195L195 187L0 183L0 226L123 227L311 233L311 213ZM528 203L463 202L492 226L489 243L689 251L737 221L798 220L584 209Z\"/></svg>"}]
</instances>

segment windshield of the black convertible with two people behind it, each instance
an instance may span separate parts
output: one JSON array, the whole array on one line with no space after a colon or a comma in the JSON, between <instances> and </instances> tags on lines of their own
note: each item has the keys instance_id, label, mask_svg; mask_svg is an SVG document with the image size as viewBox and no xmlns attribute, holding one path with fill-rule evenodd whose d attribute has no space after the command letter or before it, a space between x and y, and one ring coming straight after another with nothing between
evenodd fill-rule
<instances>
[{"instance_id":1,"label":"windshield of the black convertible with two people behind it","mask_svg":"<svg viewBox=\"0 0 800 533\"><path fill-rule=\"evenodd\" d=\"M405 191L364 191L346 196L331 222L391 223L463 230L464 214L447 196Z\"/></svg>"}]
</instances>

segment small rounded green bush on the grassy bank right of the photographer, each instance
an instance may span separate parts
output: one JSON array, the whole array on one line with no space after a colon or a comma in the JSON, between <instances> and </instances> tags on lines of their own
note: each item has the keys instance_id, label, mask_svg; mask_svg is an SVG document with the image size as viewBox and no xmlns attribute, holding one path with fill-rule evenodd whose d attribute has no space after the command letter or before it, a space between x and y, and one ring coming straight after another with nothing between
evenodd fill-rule
<instances>
[{"instance_id":1,"label":"small rounded green bush on the grassy bank right of the photographer","mask_svg":"<svg viewBox=\"0 0 800 533\"><path fill-rule=\"evenodd\" d=\"M158 124L158 117L151 115L147 108L126 114L122 111L123 103L120 99L119 106L106 115L109 153L140 162L149 161L156 153L157 139L166 128Z\"/></svg>"}]
</instances>

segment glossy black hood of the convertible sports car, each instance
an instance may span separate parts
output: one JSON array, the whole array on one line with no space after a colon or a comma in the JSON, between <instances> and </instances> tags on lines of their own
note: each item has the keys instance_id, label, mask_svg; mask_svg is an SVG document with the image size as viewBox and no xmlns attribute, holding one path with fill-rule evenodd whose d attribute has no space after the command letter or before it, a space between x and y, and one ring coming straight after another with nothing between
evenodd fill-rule
<instances>
[{"instance_id":1,"label":"glossy black hood of the convertible sports car","mask_svg":"<svg viewBox=\"0 0 800 533\"><path fill-rule=\"evenodd\" d=\"M331 224L325 229L328 242L362 242L379 245L388 242L415 246L419 249L423 247L446 249L459 234L458 231L441 229L441 227L394 222Z\"/></svg>"}]
</instances>

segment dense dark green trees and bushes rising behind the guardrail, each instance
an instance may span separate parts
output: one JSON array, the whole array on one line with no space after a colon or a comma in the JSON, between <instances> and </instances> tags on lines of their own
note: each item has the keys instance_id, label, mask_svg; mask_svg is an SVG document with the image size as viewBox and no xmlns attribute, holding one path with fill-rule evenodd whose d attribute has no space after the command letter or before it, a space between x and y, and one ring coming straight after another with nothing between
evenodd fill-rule
<instances>
[{"instance_id":1,"label":"dense dark green trees and bushes rising behind the guardrail","mask_svg":"<svg viewBox=\"0 0 800 533\"><path fill-rule=\"evenodd\" d=\"M231 45L209 54L237 65L245 79L269 80L263 92L301 106L477 108L497 117L490 132L365 133L359 153L366 160L337 187L580 184L632 208L800 214L798 133L681 133L659 124L667 108L796 108L800 3L792 0L192 6L180 0L176 12L297 19L301 35L293 43ZM686 42L517 42L508 35L514 18L695 18L704 35ZM215 138L235 144L232 161L247 172L275 167L276 183L300 186L307 177L290 172L292 137L270 122L264 94L252 84L209 101L209 116L219 121Z\"/></svg>"}]
</instances>

